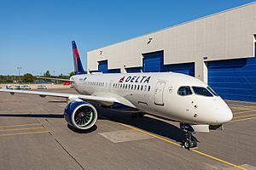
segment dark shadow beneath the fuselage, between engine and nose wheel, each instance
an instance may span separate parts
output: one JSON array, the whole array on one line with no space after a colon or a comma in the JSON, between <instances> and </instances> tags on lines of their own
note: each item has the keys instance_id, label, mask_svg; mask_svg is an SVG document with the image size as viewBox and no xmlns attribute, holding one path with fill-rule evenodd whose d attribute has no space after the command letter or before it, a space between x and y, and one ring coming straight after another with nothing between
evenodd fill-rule
<instances>
[{"instance_id":1,"label":"dark shadow beneath the fuselage, between engine and nose wheel","mask_svg":"<svg viewBox=\"0 0 256 170\"><path fill-rule=\"evenodd\" d=\"M129 113L123 113L118 111L111 111L108 109L97 108L99 116L106 117L113 122L120 122L133 127L143 129L149 133L154 133L160 136L164 136L168 139L182 143L185 139L185 133L179 127L176 127L170 123L160 121L148 116L143 117L131 117Z\"/></svg>"}]
</instances>

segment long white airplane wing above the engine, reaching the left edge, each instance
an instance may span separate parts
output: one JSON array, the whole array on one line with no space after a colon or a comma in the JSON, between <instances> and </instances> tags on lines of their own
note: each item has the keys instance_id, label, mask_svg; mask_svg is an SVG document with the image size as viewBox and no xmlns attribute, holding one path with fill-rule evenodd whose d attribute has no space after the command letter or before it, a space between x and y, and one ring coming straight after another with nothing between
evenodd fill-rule
<instances>
[{"instance_id":1,"label":"long white airplane wing above the engine, reaching the left edge","mask_svg":"<svg viewBox=\"0 0 256 170\"><path fill-rule=\"evenodd\" d=\"M0 92L10 93L10 94L34 94L39 95L40 97L52 96L60 97L69 100L86 100L91 101L96 104L101 105L113 105L114 103L120 103L119 100L114 98L107 98L101 96L92 96L92 95L80 95L80 94L60 94L52 92L39 92L39 91L30 91L30 90L12 90L12 89L0 89Z\"/></svg>"}]
</instances>

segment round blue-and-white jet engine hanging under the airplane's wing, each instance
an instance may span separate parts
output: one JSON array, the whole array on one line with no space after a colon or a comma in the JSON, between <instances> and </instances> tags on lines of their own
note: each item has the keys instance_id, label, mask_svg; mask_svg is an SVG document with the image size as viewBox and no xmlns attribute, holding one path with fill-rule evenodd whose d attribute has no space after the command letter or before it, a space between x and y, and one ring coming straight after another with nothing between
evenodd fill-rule
<instances>
[{"instance_id":1,"label":"round blue-and-white jet engine hanging under the airplane's wing","mask_svg":"<svg viewBox=\"0 0 256 170\"><path fill-rule=\"evenodd\" d=\"M70 102L64 111L64 117L71 126L85 130L92 127L97 120L97 111L93 105L84 101Z\"/></svg>"}]
</instances>

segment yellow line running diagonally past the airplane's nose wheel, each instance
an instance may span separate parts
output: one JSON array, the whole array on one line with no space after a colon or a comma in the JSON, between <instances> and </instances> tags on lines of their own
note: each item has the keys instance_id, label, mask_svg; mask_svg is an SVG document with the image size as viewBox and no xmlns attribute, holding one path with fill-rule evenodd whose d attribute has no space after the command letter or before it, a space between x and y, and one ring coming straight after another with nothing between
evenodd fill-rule
<instances>
[{"instance_id":1,"label":"yellow line running diagonally past the airplane's nose wheel","mask_svg":"<svg viewBox=\"0 0 256 170\"><path fill-rule=\"evenodd\" d=\"M256 118L256 117L255 117L255 118ZM166 142L168 142L168 143L170 143L170 144L175 144L175 145L177 145L177 146L180 146L180 144L177 144L176 142L172 142L172 141L169 140L169 139L162 138L162 137L160 137L160 136L158 136L158 135L155 135L155 134L153 134L153 133L148 133L148 132L143 131L142 129L139 129L139 128L137 128L137 127L131 127L130 125L126 125L126 124L120 123L120 122L118 122L118 123L119 123L120 125L124 126L124 127L129 127L129 128L134 129L134 130L136 130L136 131L138 131L138 132L148 134L149 136L153 136L154 138L164 140L164 141L166 141ZM238 166L238 165L235 165L235 164L233 164L233 163L230 163L229 161L224 161L224 160L222 160L222 159L219 159L218 157L209 156L209 155L207 155L207 154L205 154L205 153L203 153L203 152L201 152L201 151L198 151L198 150L192 150L192 151L194 151L195 153L200 154L201 156L207 156L207 157L209 157L209 158L212 158L213 160L223 162L223 163L228 164L228 165L230 165L230 166L232 166L232 167L237 167L237 168L242 169L242 170L247 170L247 168L240 167L240 166Z\"/></svg>"}]
</instances>

